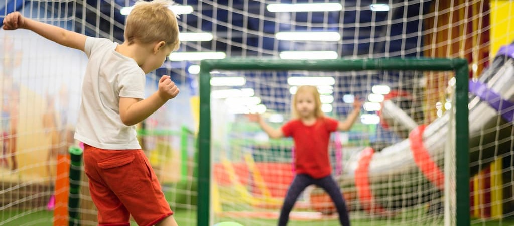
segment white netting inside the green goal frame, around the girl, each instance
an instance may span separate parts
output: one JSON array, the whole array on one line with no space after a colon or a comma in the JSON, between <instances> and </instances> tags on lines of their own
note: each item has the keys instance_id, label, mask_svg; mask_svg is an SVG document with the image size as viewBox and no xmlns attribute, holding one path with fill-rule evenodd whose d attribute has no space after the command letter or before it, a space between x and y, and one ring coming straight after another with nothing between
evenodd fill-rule
<instances>
[{"instance_id":1,"label":"white netting inside the green goal frame, around the girl","mask_svg":"<svg viewBox=\"0 0 514 226\"><path fill-rule=\"evenodd\" d=\"M448 129L454 128L448 125L454 124L448 114L442 113L451 108L448 102L446 109L438 107L440 116L427 126L427 132L419 127L427 120L423 103L427 98L423 82L426 75L412 71L216 71L211 84L219 77L244 77L246 83L212 87L213 221L276 224L295 174L292 140L270 140L258 124L247 120L245 113L261 112L268 124L280 127L291 119L291 96L299 85L295 81L311 78L303 84L318 85L322 109L328 116L343 120L352 110L355 96L365 99L354 127L334 133L329 145L333 176L342 187L352 222L443 224L444 182L438 181L434 170L421 170L418 165L432 161L437 170L443 171L445 153L455 154L453 149L444 151L446 144L453 146ZM409 134L412 130L418 133ZM368 147L376 153L366 163L367 152L363 150ZM423 159L425 155L430 158ZM290 219L314 221L316 225L338 222L331 199L315 186L305 190Z\"/></svg>"}]
</instances>

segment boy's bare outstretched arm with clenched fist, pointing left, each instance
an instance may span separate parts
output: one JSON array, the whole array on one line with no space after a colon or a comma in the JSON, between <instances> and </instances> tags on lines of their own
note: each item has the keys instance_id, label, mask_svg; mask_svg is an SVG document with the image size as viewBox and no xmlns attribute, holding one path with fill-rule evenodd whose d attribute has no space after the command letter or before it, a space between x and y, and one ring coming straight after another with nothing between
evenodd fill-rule
<instances>
[{"instance_id":1,"label":"boy's bare outstretched arm with clenched fist, pointing left","mask_svg":"<svg viewBox=\"0 0 514 226\"><path fill-rule=\"evenodd\" d=\"M86 43L86 36L84 34L25 18L20 12L7 14L4 18L2 28L4 30L15 30L18 28L29 29L48 40L82 51L84 51Z\"/></svg>"}]
</instances>

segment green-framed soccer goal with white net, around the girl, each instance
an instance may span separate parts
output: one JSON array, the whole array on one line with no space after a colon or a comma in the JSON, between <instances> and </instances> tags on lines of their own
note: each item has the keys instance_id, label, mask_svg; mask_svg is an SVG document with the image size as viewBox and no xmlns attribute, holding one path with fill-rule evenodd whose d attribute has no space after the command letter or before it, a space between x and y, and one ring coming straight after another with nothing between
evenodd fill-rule
<instances>
[{"instance_id":1,"label":"green-framed soccer goal with white net, around the girl","mask_svg":"<svg viewBox=\"0 0 514 226\"><path fill-rule=\"evenodd\" d=\"M354 127L334 133L330 145L353 222L470 224L466 60L224 59L200 68L198 225L276 224L294 147L288 138L269 140L245 114L280 126L299 85L316 85L322 110L338 119L354 98L365 99ZM423 105L434 95L427 73L449 81L445 102L433 109ZM337 225L334 212L323 190L308 187L290 219Z\"/></svg>"}]
</instances>

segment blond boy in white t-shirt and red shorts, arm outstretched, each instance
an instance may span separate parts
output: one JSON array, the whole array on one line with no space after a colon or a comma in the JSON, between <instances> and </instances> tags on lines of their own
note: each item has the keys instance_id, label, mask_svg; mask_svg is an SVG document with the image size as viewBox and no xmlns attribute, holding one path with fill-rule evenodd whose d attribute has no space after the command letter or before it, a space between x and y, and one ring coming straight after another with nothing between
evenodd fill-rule
<instances>
[{"instance_id":1,"label":"blond boy in white t-shirt and red shorts, arm outstretched","mask_svg":"<svg viewBox=\"0 0 514 226\"><path fill-rule=\"evenodd\" d=\"M137 2L122 44L36 22L19 12L4 19L6 30L32 30L89 58L75 138L85 144L84 169L99 225L128 226L130 215L138 225L177 225L134 126L179 93L170 76L162 76L158 90L143 99L145 74L179 47L171 4Z\"/></svg>"}]
</instances>

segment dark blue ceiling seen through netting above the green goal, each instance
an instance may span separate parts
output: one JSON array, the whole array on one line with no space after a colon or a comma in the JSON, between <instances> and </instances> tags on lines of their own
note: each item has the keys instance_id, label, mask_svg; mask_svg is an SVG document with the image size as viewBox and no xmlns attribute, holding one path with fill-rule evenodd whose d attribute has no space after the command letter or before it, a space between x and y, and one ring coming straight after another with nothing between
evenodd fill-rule
<instances>
[{"instance_id":1,"label":"dark blue ceiling seen through netting above the green goal","mask_svg":"<svg viewBox=\"0 0 514 226\"><path fill-rule=\"evenodd\" d=\"M112 10L112 1L85 1L89 6L82 10L80 2L76 2L75 12L77 29L81 29L81 20L93 27L111 33L115 39L123 40L123 30L119 26L112 26L109 19L114 18L117 24L123 24L125 15L119 10ZM181 51L194 50L219 50L230 53L230 56L266 56L273 51L298 50L305 48L304 43L290 43L277 41L273 34L278 31L290 30L333 30L342 33L342 41L335 45L321 46L321 50L329 48L338 50L341 57L355 55L384 55L384 53L405 52L403 56L419 56L418 51L409 50L419 47L420 36L401 37L402 33L415 33L423 28L419 26L416 17L428 9L430 1L401 1L401 0L351 0L342 1L342 11L332 12L297 12L290 22L280 20L278 13L265 9L263 1L197 1L177 0L178 4L191 5L194 13L180 16L181 31L212 31L215 39L212 42L186 44ZM276 1L273 1L273 3ZM291 1L280 1L291 3ZM301 3L307 1L295 1ZM308 2L326 2L311 0ZM369 5L377 2L393 2L394 7L389 12L374 12L369 10ZM407 4L400 4L409 2ZM421 3L420 3L421 2ZM126 1L116 0L118 7L125 6ZM130 1L128 5L132 5ZM359 4L358 6L356 4ZM58 4L54 4L58 5ZM362 7L362 9L360 9ZM366 8L368 7L368 8ZM231 10L227 10L230 8ZM98 17L99 11L105 17ZM114 14L113 14L114 12ZM68 12L69 14L72 12ZM255 15L255 16L253 16ZM258 16L256 16L258 15ZM397 20L409 18L409 20ZM414 19L413 19L414 18ZM393 23L386 23L390 21ZM358 26L356 26L358 24ZM364 25L364 26L362 26ZM95 29L86 28L86 34L95 35ZM246 29L246 30L244 30ZM262 35L261 35L262 34ZM397 37L385 40L383 37ZM381 39L380 39L381 38ZM378 41L372 41L377 39ZM362 40L362 41L359 41ZM286 43L286 44L284 44ZM356 46L357 45L357 46ZM246 47L245 47L246 46ZM419 49L419 48L418 48ZM268 51L269 50L269 51ZM397 54L396 54L397 55Z\"/></svg>"}]
</instances>

